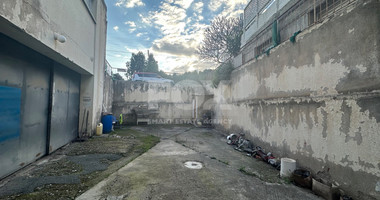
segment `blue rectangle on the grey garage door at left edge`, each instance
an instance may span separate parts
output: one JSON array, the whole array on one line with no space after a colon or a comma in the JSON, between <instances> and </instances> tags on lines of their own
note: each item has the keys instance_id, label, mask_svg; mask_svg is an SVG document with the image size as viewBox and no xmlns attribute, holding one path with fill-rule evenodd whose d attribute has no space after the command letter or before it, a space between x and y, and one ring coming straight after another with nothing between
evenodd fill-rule
<instances>
[{"instance_id":1,"label":"blue rectangle on the grey garage door at left edge","mask_svg":"<svg viewBox=\"0 0 380 200\"><path fill-rule=\"evenodd\" d=\"M0 143L20 136L21 89L0 86Z\"/></svg>"}]
</instances>

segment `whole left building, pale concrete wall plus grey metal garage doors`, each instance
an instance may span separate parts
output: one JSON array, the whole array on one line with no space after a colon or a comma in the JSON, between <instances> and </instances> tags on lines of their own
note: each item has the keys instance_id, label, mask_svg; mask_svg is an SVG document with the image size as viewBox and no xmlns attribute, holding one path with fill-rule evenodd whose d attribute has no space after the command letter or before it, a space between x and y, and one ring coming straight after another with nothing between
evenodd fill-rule
<instances>
[{"instance_id":1,"label":"whole left building, pale concrete wall plus grey metal garage doors","mask_svg":"<svg viewBox=\"0 0 380 200\"><path fill-rule=\"evenodd\" d=\"M0 2L0 178L94 131L106 26L103 0Z\"/></svg>"}]
</instances>

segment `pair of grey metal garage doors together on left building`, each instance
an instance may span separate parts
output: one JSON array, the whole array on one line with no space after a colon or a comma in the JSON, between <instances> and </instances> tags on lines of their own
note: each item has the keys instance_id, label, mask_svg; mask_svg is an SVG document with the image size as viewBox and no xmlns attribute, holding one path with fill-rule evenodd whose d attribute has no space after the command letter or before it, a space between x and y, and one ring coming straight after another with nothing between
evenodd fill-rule
<instances>
[{"instance_id":1,"label":"pair of grey metal garage doors together on left building","mask_svg":"<svg viewBox=\"0 0 380 200\"><path fill-rule=\"evenodd\" d=\"M0 178L77 137L79 88L78 73L0 34Z\"/></svg>"}]
</instances>

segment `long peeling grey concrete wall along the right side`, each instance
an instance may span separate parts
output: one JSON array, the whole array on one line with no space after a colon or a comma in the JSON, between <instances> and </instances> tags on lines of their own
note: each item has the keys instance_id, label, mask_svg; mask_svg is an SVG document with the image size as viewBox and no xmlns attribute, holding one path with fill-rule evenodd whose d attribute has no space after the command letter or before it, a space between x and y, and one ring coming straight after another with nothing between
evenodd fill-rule
<instances>
[{"instance_id":1,"label":"long peeling grey concrete wall along the right side","mask_svg":"<svg viewBox=\"0 0 380 200\"><path fill-rule=\"evenodd\" d=\"M380 199L380 5L358 1L237 68L215 92L215 112L256 145L332 178L359 199Z\"/></svg>"}]
</instances>

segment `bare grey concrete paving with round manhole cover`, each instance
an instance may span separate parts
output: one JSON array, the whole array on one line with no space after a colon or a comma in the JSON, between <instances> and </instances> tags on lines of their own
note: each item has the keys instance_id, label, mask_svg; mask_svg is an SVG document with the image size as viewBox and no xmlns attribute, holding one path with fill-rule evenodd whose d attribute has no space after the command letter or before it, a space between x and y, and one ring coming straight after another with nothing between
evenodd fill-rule
<instances>
[{"instance_id":1,"label":"bare grey concrete paving with round manhole cover","mask_svg":"<svg viewBox=\"0 0 380 200\"><path fill-rule=\"evenodd\" d=\"M161 142L77 199L320 199L226 144L213 129L136 126ZM185 167L187 161L202 168ZM198 165L190 164L190 167Z\"/></svg>"}]
</instances>

